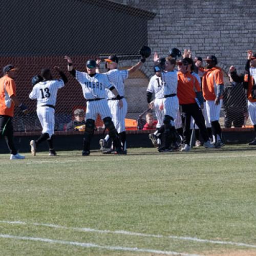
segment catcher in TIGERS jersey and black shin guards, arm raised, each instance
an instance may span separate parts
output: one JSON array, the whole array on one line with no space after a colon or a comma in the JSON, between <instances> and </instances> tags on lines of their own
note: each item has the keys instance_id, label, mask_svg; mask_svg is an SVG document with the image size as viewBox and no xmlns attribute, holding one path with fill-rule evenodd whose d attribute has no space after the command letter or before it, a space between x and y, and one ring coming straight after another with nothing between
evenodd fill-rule
<instances>
[{"instance_id":1,"label":"catcher in TIGERS jersey and black shin guards, arm raised","mask_svg":"<svg viewBox=\"0 0 256 256\"><path fill-rule=\"evenodd\" d=\"M85 73L73 69L70 57L65 56L65 59L68 61L68 71L81 84L83 96L87 100L86 130L84 131L82 156L90 155L90 142L94 134L95 119L98 114L101 116L106 129L109 130L110 137L114 142L115 151L113 151L113 154L124 154L117 130L111 119L112 115L108 102L105 99L105 89L109 89L117 100L118 108L122 108L123 102L118 91L106 75L96 73L97 64L95 60L87 61L87 73Z\"/></svg>"}]
</instances>

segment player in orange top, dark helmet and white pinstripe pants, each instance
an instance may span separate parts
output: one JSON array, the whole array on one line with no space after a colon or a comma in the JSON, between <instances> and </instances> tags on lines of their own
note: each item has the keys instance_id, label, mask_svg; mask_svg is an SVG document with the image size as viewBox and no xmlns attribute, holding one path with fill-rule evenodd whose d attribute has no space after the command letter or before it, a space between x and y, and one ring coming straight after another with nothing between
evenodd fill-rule
<instances>
[{"instance_id":1,"label":"player in orange top, dark helmet and white pinstripe pants","mask_svg":"<svg viewBox=\"0 0 256 256\"><path fill-rule=\"evenodd\" d=\"M206 100L206 111L211 123L212 139L216 148L224 145L221 141L221 126L219 123L222 105L222 94L224 90L224 80L221 68L216 67L217 58L214 55L207 56L207 69L202 76L202 91Z\"/></svg>"}]
</instances>

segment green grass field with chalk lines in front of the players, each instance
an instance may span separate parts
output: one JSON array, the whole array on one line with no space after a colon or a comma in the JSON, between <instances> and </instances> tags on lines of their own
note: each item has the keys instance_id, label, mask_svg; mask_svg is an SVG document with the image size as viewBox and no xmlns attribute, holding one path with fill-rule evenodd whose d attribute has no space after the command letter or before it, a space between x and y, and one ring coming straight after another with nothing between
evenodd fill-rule
<instances>
[{"instance_id":1,"label":"green grass field with chalk lines in front of the players","mask_svg":"<svg viewBox=\"0 0 256 256\"><path fill-rule=\"evenodd\" d=\"M256 147L0 155L0 255L256 255Z\"/></svg>"}]
</instances>

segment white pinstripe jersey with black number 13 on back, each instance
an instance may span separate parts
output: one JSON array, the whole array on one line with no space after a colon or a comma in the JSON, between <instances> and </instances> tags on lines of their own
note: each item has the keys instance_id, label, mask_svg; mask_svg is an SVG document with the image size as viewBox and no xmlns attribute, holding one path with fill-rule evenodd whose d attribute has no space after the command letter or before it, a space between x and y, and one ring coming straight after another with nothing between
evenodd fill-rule
<instances>
[{"instance_id":1,"label":"white pinstripe jersey with black number 13 on back","mask_svg":"<svg viewBox=\"0 0 256 256\"><path fill-rule=\"evenodd\" d=\"M64 86L62 79L47 80L38 82L29 95L30 99L37 100L37 106L53 105L55 106L57 100L58 89Z\"/></svg>"}]
</instances>

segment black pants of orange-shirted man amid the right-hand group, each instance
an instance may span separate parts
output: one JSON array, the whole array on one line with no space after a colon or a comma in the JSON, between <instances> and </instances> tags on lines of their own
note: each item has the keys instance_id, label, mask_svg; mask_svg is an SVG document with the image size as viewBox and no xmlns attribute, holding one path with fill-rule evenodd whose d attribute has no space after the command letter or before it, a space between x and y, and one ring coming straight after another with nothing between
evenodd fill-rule
<instances>
[{"instance_id":1,"label":"black pants of orange-shirted man amid the right-hand group","mask_svg":"<svg viewBox=\"0 0 256 256\"><path fill-rule=\"evenodd\" d=\"M191 103L191 104L183 104L181 105L182 112L184 113L185 116L185 124L184 124L184 131L183 131L183 136L184 136L184 143L189 145L190 142L190 120L191 117L194 118L195 123L199 127L201 136L204 140L204 142L209 140L209 136L207 133L207 129L205 126L205 120L204 116L202 113L202 110L199 108L197 103Z\"/></svg>"}]
</instances>

